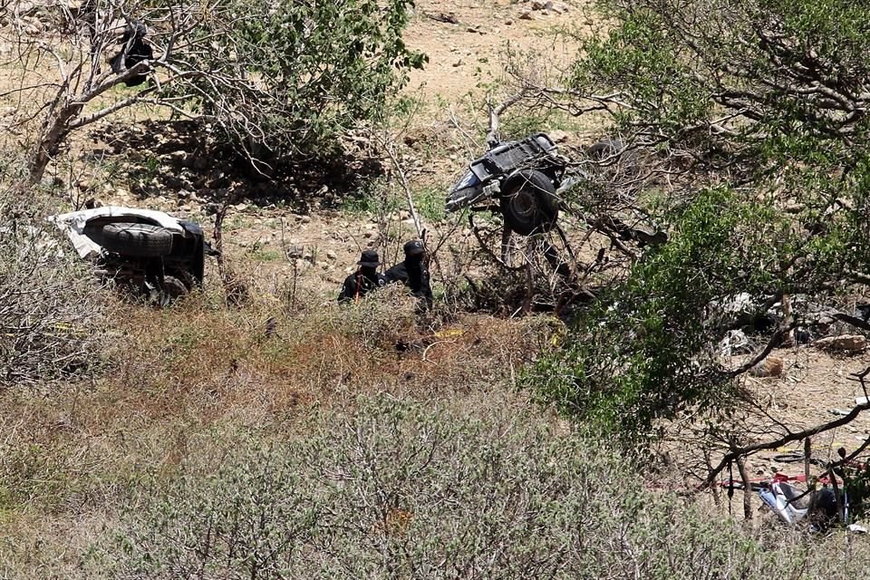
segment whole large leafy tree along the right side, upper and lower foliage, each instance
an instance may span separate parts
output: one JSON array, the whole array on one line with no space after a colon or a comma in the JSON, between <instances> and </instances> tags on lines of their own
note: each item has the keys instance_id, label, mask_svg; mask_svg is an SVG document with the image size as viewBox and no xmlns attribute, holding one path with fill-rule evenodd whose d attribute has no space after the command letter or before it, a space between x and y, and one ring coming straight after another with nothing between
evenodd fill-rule
<instances>
[{"instance_id":1,"label":"whole large leafy tree along the right side, upper and lower foliage","mask_svg":"<svg viewBox=\"0 0 870 580\"><path fill-rule=\"evenodd\" d=\"M660 199L645 209L670 241L604 291L530 382L546 401L635 438L689 407L728 409L745 394L732 379L788 329L811 329L813 303L864 291L870 7L616 0L599 10L604 32L575 63L571 104L608 112L643 153L633 193ZM740 293L751 299L736 307ZM726 367L720 340L784 295L802 299L783 328L752 360Z\"/></svg>"}]
</instances>

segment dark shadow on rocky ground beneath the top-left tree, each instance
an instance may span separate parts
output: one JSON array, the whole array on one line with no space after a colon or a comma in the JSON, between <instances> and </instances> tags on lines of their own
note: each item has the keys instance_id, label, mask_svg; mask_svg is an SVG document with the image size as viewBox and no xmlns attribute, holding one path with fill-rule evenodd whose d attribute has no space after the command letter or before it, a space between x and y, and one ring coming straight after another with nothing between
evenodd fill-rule
<instances>
[{"instance_id":1,"label":"dark shadow on rocky ground beneath the top-left tree","mask_svg":"<svg viewBox=\"0 0 870 580\"><path fill-rule=\"evenodd\" d=\"M175 195L215 210L227 201L278 205L309 213L336 208L383 173L371 149L323 157L285 157L257 172L241 148L203 121L142 121L92 131L88 160L121 162L131 192L145 200Z\"/></svg>"}]
</instances>

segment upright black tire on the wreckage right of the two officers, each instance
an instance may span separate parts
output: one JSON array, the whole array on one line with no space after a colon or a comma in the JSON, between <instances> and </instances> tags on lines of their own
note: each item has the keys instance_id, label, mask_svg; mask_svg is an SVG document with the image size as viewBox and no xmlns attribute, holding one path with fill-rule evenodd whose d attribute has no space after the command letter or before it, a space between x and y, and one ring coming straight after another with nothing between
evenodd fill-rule
<instances>
[{"instance_id":1,"label":"upright black tire on the wreckage right of the two officers","mask_svg":"<svg viewBox=\"0 0 870 580\"><path fill-rule=\"evenodd\" d=\"M549 231L559 218L556 187L546 175L533 169L507 179L500 202L505 224L521 236Z\"/></svg>"}]
</instances>

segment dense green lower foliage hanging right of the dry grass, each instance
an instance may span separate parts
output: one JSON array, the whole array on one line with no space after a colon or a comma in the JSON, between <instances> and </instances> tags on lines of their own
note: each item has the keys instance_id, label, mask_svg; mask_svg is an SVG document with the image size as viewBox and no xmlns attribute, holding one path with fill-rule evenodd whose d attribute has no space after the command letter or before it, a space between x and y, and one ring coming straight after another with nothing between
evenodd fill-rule
<instances>
[{"instance_id":1,"label":"dense green lower foliage hanging right of the dry grass","mask_svg":"<svg viewBox=\"0 0 870 580\"><path fill-rule=\"evenodd\" d=\"M565 350L538 362L526 379L561 411L626 440L654 436L657 419L683 411L730 409L740 393L715 345L770 305L759 301L755 311L736 313L734 296L772 303L811 290L822 299L846 264L868 261L853 249L866 245L854 216L832 217L825 235L807 240L769 203L708 189L668 218L671 240L609 288L580 317Z\"/></svg>"}]
</instances>

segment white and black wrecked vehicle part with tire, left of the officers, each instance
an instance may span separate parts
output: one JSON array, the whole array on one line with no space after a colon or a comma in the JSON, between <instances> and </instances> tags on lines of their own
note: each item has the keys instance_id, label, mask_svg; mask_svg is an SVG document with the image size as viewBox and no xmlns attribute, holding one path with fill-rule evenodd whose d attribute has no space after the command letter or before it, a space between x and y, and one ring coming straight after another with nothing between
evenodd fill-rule
<instances>
[{"instance_id":1,"label":"white and black wrecked vehicle part with tire, left of the officers","mask_svg":"<svg viewBox=\"0 0 870 580\"><path fill-rule=\"evenodd\" d=\"M205 256L216 254L198 224L161 211L93 208L49 219L97 275L160 305L201 285Z\"/></svg>"}]
</instances>

